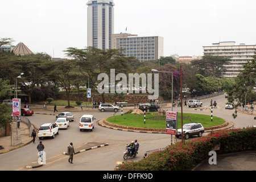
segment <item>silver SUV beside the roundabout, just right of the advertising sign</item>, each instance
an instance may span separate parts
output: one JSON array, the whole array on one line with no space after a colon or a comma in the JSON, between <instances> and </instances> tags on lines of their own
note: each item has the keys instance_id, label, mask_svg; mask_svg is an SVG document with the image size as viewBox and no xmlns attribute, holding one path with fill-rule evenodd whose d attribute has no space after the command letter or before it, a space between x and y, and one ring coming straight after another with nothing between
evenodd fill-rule
<instances>
[{"instance_id":1,"label":"silver SUV beside the roundabout, just right of the advertising sign","mask_svg":"<svg viewBox=\"0 0 256 182\"><path fill-rule=\"evenodd\" d=\"M188 139L192 135L197 135L198 137L202 137L204 133L204 127L201 125L201 123L188 123L183 125L183 133L184 138ZM177 133L175 135L177 138L181 137L181 129L177 130Z\"/></svg>"}]
</instances>

